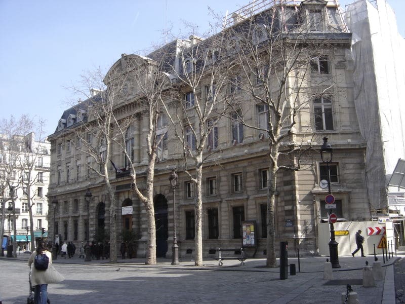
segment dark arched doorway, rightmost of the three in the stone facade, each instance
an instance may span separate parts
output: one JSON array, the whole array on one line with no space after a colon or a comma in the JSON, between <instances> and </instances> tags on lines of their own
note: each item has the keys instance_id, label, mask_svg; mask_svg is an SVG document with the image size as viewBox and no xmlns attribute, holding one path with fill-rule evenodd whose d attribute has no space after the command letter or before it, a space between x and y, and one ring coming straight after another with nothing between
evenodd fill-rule
<instances>
[{"instance_id":1,"label":"dark arched doorway, rightmost of the three in the stone facade","mask_svg":"<svg viewBox=\"0 0 405 304\"><path fill-rule=\"evenodd\" d=\"M168 251L168 200L158 194L154 198L156 225L156 257L166 257Z\"/></svg>"}]
</instances>

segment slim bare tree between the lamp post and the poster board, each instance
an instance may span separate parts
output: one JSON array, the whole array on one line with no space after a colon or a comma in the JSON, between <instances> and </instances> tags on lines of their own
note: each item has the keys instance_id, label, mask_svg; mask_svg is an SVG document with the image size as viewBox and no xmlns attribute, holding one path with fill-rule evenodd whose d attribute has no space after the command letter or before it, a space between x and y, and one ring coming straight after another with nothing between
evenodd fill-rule
<instances>
[{"instance_id":1,"label":"slim bare tree between the lamp post and the poster board","mask_svg":"<svg viewBox=\"0 0 405 304\"><path fill-rule=\"evenodd\" d=\"M226 56L224 37L214 35L202 41L190 36L190 43L178 54L178 66L171 65L176 77L177 96L164 104L174 134L181 143L185 173L195 185L195 258L203 265L203 167L219 150L218 124L226 112L233 63Z\"/></svg>"}]
</instances>

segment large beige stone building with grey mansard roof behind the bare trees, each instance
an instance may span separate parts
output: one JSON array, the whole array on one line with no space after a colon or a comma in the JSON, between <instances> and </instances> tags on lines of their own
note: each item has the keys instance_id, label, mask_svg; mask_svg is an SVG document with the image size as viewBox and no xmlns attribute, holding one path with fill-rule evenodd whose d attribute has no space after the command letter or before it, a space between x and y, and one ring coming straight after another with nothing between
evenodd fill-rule
<instances>
[{"instance_id":1,"label":"large beige stone building with grey mansard roof behind the bare trees","mask_svg":"<svg viewBox=\"0 0 405 304\"><path fill-rule=\"evenodd\" d=\"M176 168L179 175L175 202L180 257L193 254L196 186L184 172L186 164L183 155L193 151L194 145L198 144L195 138L198 132L192 132L192 127L198 125L198 121L197 115L186 116L181 109L192 111L197 98L223 98L223 104L226 104L226 100L239 100L237 109L233 108L234 111L227 112L228 116L223 115L215 121L216 125L209 129L206 139L204 156L210 157L207 157L203 165L203 255L212 256L219 247L238 248L243 241L248 241L246 231L241 229L242 222L248 220L256 224L254 234L250 237L255 239L257 245L249 249L249 254L266 254L269 141L263 130L268 128L266 124L268 125L269 109L251 95L252 91L262 92L265 87L265 81L260 77L268 73L266 65L259 62L256 69L250 66L250 71L241 77L234 74L232 77L224 76L229 78L229 85L221 89L218 88L219 81L216 80L215 84L210 82L210 69L207 69L207 73L201 77L201 82L194 88L180 81L184 79L184 75L206 66L207 61L193 58L198 49L211 52L203 52L205 60L210 60L211 70L216 64L219 66L226 60L232 62L236 55L233 55L232 51L226 53L226 56L221 53L221 50L229 50L229 47L218 45L218 37L228 37L227 46L238 48L240 40L235 42L233 37L243 34L261 50L260 56L267 58L267 53L263 50L273 38L269 35L271 29L269 31L269 26L265 23L271 19L269 16L273 12L271 7L274 2L264 3L268 5L264 11L255 11L257 6L246 10L254 12L253 16L244 15L242 10L235 12L218 34L206 40L190 36L189 40L176 40L146 57L123 54L107 73L106 78L120 70L122 74L126 74L131 62L141 62L139 65L132 65L136 66L133 69L136 70L143 64L164 61L165 72L172 83L172 87L168 89L173 98L172 102L167 103L171 107L169 112L173 113L177 109L182 115L183 125L171 125L167 117L164 119L164 114L157 122L156 136L161 138L154 175L157 256L171 255L169 248L173 241L174 200L169 176L173 168ZM325 209L328 189L320 185L321 180L328 179L326 164L321 162L319 154L322 138L328 137L328 142L333 146L330 182L336 199L335 213L339 221L371 218L364 179L366 142L359 132L355 114L353 75L348 69L352 62L346 57L350 51L351 34L347 31L337 2L305 0L287 3L283 10L275 11L286 17L277 17L278 26L286 29L294 29L297 25L304 26L305 45L322 47L317 47L313 56L307 54L306 64L302 63L298 69L294 69L298 70L295 80L299 78L302 81L299 88L296 87L297 83L288 83L287 91L296 92L295 96L298 96L294 99L290 95L288 106L293 108L296 100L301 100L301 106L285 139L280 141L280 151L287 153L291 147L299 147L307 148L308 152L300 157L293 154L294 167L299 165L300 170L277 173L274 192L275 234L276 241L288 241L291 244L291 254L298 248L301 253L312 254L316 253L318 248L318 224L328 218L328 210ZM294 41L296 37L297 32L294 36L287 35L284 38ZM224 40L226 39L222 41ZM302 42L300 44L304 45ZM308 48L305 51L308 53ZM161 59L163 56L166 57ZM235 66L237 70L243 70L240 65ZM269 75L267 80L272 79L270 76L272 77ZM248 84L254 89L249 90ZM217 94L218 91L221 92ZM116 107L117 115L121 121L133 117L123 145L130 151L130 157L136 164L139 179L137 183L142 188L148 160L146 134L149 119L137 102L142 96L135 83L126 82L119 93L121 101ZM97 234L100 235L100 231L108 230L110 223L110 204L105 182L95 173L99 170L95 166L96 156L90 157L80 148L85 138L103 160L105 143L93 138L94 118L88 114L88 105L97 101L99 94L101 93L94 91L88 100L67 109L55 133L49 136L49 197L50 201L52 198L52 201L57 202L56 221L54 225L49 226L49 230L60 234L62 240L80 242L92 239ZM231 99L227 99L229 96ZM306 100L305 103L303 100ZM217 110L219 111L219 108ZM238 110L243 114L243 123ZM210 122L207 122L207 125L209 124ZM175 136L176 128L184 133L186 147L180 144ZM131 189L128 160L119 145L112 144L110 159L103 161L110 161L108 172L111 174L110 182L114 186L115 198L119 202L115 211L120 229L134 232L137 236L137 254L144 256L147 243L145 210ZM280 165L288 165L288 162L287 156L280 157ZM192 172L190 167L187 168ZM92 194L90 201L85 200L88 188Z\"/></svg>"}]
</instances>

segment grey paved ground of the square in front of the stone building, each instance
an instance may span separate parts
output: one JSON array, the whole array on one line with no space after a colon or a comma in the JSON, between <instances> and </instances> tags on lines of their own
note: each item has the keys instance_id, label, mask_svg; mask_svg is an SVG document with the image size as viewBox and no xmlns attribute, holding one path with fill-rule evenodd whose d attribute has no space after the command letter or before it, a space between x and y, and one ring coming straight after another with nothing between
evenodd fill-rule
<instances>
[{"instance_id":1,"label":"grey paved ground of the square in front of the stone building","mask_svg":"<svg viewBox=\"0 0 405 304\"><path fill-rule=\"evenodd\" d=\"M26 303L29 293L28 257L0 258L0 291L3 304ZM374 257L339 257L341 269L333 273L333 281L323 280L325 257L298 260L297 274L280 280L279 269L267 269L264 259L249 259L246 265L225 260L219 267L215 260L205 261L196 268L190 260L173 266L170 260L158 260L157 265L145 265L143 259L118 260L110 264L105 260L84 262L83 259L58 258L55 268L65 281L48 286L51 303L341 303L346 284L353 283L360 303L382 303L384 280L375 287L361 285L365 261ZM380 259L379 259L380 260ZM382 258L381 258L382 260ZM387 264L393 267L395 258ZM387 267L384 267L384 272ZM360 283L359 283L360 281ZM356 285L360 284L360 285ZM395 303L393 301L392 303Z\"/></svg>"}]
</instances>

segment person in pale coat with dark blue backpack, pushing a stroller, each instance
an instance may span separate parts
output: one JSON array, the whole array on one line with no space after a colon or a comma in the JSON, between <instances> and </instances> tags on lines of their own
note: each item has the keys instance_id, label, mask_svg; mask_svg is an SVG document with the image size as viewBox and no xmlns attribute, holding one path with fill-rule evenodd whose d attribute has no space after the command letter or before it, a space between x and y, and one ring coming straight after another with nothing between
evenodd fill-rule
<instances>
[{"instance_id":1,"label":"person in pale coat with dark blue backpack, pushing a stroller","mask_svg":"<svg viewBox=\"0 0 405 304\"><path fill-rule=\"evenodd\" d=\"M65 279L52 265L51 248L52 246L50 243L45 245L44 242L39 242L38 247L32 252L28 259L28 266L31 274L31 286L34 287L35 304L46 304L48 300L48 284L59 283ZM46 270L37 270L35 268L34 259L37 254L46 254L48 256L49 264Z\"/></svg>"}]
</instances>

